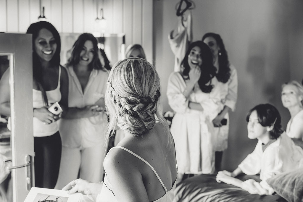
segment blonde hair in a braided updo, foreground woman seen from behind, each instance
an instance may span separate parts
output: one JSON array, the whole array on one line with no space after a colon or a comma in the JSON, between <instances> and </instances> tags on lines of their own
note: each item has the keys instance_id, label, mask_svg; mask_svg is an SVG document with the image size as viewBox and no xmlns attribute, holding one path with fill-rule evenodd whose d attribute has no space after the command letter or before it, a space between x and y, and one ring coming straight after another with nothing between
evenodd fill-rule
<instances>
[{"instance_id":1,"label":"blonde hair in a braided updo, foreground woman seen from behind","mask_svg":"<svg viewBox=\"0 0 303 202\"><path fill-rule=\"evenodd\" d=\"M167 122L158 111L159 97L160 79L148 61L126 58L117 62L108 77L105 94L109 114L107 138L118 128L134 137L142 136L154 128L155 114L164 125L165 134L170 134Z\"/></svg>"}]
</instances>

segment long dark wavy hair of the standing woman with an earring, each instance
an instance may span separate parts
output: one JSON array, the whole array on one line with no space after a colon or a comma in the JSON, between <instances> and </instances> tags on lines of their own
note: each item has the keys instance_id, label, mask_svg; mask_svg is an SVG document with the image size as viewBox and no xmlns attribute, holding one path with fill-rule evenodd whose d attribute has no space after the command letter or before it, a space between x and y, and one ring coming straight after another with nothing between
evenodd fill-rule
<instances>
[{"instance_id":1,"label":"long dark wavy hair of the standing woman with an earring","mask_svg":"<svg viewBox=\"0 0 303 202\"><path fill-rule=\"evenodd\" d=\"M213 37L216 40L217 45L220 47L221 55L218 55L219 70L218 73L216 74L216 77L218 81L222 83L226 83L230 78L231 73L229 68L230 64L228 61L227 51L225 49L223 40L220 35L209 32L202 37L202 41L204 41L204 39L207 37Z\"/></svg>"}]
</instances>

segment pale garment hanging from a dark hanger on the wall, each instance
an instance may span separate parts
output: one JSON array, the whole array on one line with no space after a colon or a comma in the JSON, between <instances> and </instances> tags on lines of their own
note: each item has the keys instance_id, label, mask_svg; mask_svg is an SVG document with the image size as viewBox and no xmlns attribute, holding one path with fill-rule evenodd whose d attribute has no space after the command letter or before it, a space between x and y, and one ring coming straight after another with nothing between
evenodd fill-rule
<instances>
[{"instance_id":1,"label":"pale garment hanging from a dark hanger on the wall","mask_svg":"<svg viewBox=\"0 0 303 202\"><path fill-rule=\"evenodd\" d=\"M192 38L191 11L188 10L186 14L178 17L178 32L174 33L174 30L172 30L168 35L171 51L175 54L174 71L181 70L181 62L185 56L188 45L192 41Z\"/></svg>"}]
</instances>

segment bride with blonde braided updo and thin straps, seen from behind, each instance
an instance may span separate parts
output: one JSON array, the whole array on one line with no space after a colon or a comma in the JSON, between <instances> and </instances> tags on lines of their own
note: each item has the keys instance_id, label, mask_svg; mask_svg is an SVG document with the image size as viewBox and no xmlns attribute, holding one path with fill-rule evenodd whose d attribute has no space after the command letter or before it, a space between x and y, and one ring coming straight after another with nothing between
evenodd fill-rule
<instances>
[{"instance_id":1,"label":"bride with blonde braided updo and thin straps, seen from behind","mask_svg":"<svg viewBox=\"0 0 303 202\"><path fill-rule=\"evenodd\" d=\"M160 79L148 61L127 58L116 63L105 94L107 137L116 129L122 129L125 137L105 157L104 182L77 179L63 190L97 195L96 201L172 201L175 144L158 112L159 97Z\"/></svg>"}]
</instances>

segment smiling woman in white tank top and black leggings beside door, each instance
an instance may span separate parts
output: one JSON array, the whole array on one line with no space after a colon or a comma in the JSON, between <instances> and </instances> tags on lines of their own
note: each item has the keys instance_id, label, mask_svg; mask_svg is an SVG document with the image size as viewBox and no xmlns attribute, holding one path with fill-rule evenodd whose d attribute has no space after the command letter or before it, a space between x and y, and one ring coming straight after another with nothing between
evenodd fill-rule
<instances>
[{"instance_id":1,"label":"smiling woman in white tank top and black leggings beside door","mask_svg":"<svg viewBox=\"0 0 303 202\"><path fill-rule=\"evenodd\" d=\"M49 22L40 21L28 27L33 42L33 135L35 151L35 186L54 188L59 173L61 137L56 120L61 115L48 111L48 106L58 102L66 111L68 103L68 76L60 65L61 41L56 28ZM9 95L9 69L2 78L7 79ZM5 96L4 96L5 97ZM9 102L5 115L9 116ZM63 115L63 114L62 114ZM10 124L8 124L9 126Z\"/></svg>"}]
</instances>

